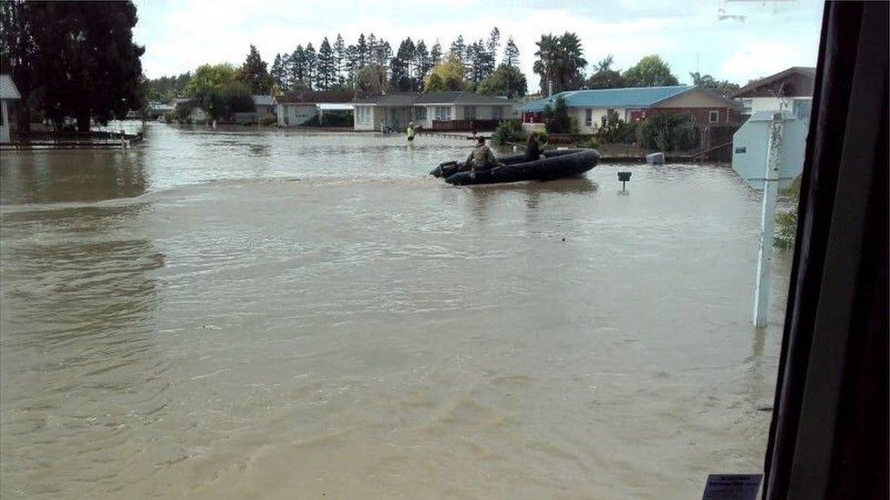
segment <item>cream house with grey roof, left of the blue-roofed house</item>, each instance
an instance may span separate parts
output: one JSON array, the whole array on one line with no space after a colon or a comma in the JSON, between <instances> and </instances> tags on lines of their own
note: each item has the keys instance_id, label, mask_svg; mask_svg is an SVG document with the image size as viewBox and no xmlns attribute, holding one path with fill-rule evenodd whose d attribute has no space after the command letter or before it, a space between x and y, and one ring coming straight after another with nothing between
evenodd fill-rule
<instances>
[{"instance_id":1,"label":"cream house with grey roof, left of the blue-roofed house","mask_svg":"<svg viewBox=\"0 0 890 500\"><path fill-rule=\"evenodd\" d=\"M515 103L504 97L482 96L461 90L427 94L387 94L354 101L356 130L402 129L409 121L433 130L493 129L513 117Z\"/></svg>"}]
</instances>

